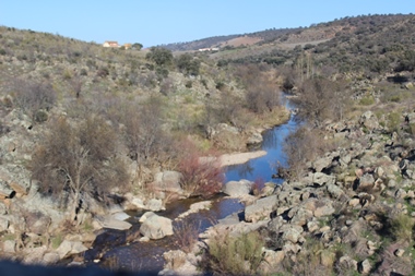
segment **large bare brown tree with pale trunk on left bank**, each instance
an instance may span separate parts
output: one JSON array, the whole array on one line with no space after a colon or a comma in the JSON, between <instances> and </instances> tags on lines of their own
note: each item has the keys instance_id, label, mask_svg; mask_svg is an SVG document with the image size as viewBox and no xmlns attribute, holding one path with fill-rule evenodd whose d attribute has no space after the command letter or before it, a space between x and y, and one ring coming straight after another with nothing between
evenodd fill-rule
<instances>
[{"instance_id":1,"label":"large bare brown tree with pale trunk on left bank","mask_svg":"<svg viewBox=\"0 0 415 276\"><path fill-rule=\"evenodd\" d=\"M106 199L112 188L127 184L116 134L102 118L90 116L79 123L59 118L43 141L33 155L33 179L43 193L70 203L71 220L76 220L83 194Z\"/></svg>"}]
</instances>

